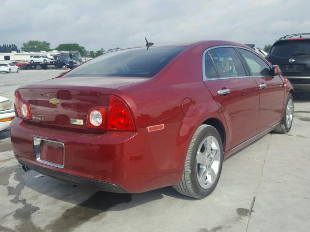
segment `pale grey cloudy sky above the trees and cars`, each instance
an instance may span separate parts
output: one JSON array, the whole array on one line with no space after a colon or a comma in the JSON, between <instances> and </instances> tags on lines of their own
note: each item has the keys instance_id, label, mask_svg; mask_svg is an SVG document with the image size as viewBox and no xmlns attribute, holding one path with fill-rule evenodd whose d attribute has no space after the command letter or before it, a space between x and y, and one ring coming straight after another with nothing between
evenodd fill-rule
<instances>
[{"instance_id":1,"label":"pale grey cloudy sky above the trees and cars","mask_svg":"<svg viewBox=\"0 0 310 232\"><path fill-rule=\"evenodd\" d=\"M0 0L0 44L79 43L87 50L183 40L262 47L310 32L309 0ZM5 10L6 9L6 10Z\"/></svg>"}]
</instances>

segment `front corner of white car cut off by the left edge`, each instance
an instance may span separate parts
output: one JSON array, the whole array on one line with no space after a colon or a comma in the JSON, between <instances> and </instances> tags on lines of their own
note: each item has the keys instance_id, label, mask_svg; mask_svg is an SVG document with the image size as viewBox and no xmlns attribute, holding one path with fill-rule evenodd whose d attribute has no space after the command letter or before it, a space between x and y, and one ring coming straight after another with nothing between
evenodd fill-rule
<instances>
[{"instance_id":1,"label":"front corner of white car cut off by the left edge","mask_svg":"<svg viewBox=\"0 0 310 232\"><path fill-rule=\"evenodd\" d=\"M0 96L0 133L8 129L15 118L15 111L11 107L12 103L7 98Z\"/></svg>"}]
</instances>

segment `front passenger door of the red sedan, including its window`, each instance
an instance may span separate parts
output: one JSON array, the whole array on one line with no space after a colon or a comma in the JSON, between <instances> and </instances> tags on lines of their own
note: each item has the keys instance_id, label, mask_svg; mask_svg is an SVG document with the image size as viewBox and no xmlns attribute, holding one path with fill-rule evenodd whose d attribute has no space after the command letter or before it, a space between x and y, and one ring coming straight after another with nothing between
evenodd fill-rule
<instances>
[{"instance_id":1,"label":"front passenger door of the red sedan, including its window","mask_svg":"<svg viewBox=\"0 0 310 232\"><path fill-rule=\"evenodd\" d=\"M284 103L284 83L272 76L271 67L262 58L247 49L238 48L259 87L260 109L257 130L261 132L281 120Z\"/></svg>"}]
</instances>

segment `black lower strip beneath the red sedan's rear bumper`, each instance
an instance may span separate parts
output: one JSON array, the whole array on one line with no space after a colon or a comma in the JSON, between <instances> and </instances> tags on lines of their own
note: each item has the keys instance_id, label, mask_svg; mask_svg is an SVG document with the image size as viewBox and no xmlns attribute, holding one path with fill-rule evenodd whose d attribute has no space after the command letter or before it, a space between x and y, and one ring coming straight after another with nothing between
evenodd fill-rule
<instances>
[{"instance_id":1,"label":"black lower strip beneath the red sedan's rear bumper","mask_svg":"<svg viewBox=\"0 0 310 232\"><path fill-rule=\"evenodd\" d=\"M95 189L102 190L102 191L128 193L124 189L120 188L119 186L109 183L109 182L92 180L92 179L82 178L82 177L78 177L74 175L62 174L60 172L55 172L52 170L48 170L46 168L42 168L40 166L33 165L19 158L16 158L16 159L18 160L20 164L26 166L27 168L31 170L34 170L36 172L48 175L50 177L53 177L59 180L67 181L67 182L70 182L70 183L73 183L79 186L95 188Z\"/></svg>"}]
</instances>

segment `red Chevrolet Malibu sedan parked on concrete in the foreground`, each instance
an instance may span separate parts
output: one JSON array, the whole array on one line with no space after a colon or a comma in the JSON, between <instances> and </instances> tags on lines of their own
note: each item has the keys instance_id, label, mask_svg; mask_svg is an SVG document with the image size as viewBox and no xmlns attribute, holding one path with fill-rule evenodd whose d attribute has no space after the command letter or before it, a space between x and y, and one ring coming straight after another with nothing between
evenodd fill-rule
<instances>
[{"instance_id":1,"label":"red Chevrolet Malibu sedan parked on concrete in the foreground","mask_svg":"<svg viewBox=\"0 0 310 232\"><path fill-rule=\"evenodd\" d=\"M293 88L248 46L147 45L16 90L11 139L25 171L105 191L174 186L203 198L223 160L269 131L290 131Z\"/></svg>"}]
</instances>

